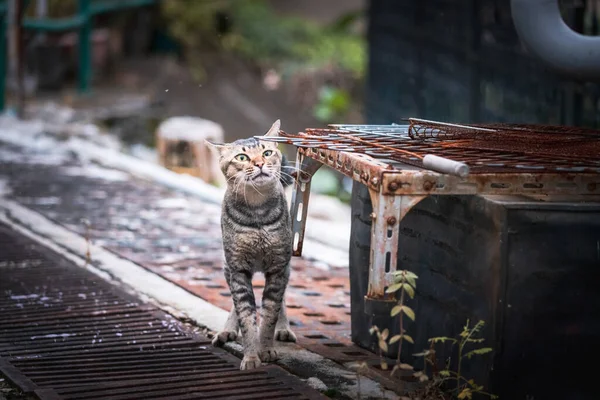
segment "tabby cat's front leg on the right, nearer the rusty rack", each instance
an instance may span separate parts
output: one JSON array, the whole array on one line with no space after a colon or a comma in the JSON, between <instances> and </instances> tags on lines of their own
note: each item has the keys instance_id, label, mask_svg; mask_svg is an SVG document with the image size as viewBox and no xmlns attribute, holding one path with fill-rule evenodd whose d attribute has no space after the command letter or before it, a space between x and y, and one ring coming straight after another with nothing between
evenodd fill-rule
<instances>
[{"instance_id":1,"label":"tabby cat's front leg on the right, nearer the rusty rack","mask_svg":"<svg viewBox=\"0 0 600 400\"><path fill-rule=\"evenodd\" d=\"M288 266L275 269L272 272L265 272L265 289L263 291L259 330L259 355L264 362L277 359L277 351L273 348L273 339L289 275Z\"/></svg>"}]
</instances>

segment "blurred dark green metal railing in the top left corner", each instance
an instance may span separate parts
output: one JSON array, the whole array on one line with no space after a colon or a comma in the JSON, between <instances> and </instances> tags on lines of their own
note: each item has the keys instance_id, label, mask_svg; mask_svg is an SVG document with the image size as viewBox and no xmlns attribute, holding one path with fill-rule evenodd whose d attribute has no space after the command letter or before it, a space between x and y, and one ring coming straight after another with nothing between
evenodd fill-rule
<instances>
[{"instance_id":1,"label":"blurred dark green metal railing in the top left corner","mask_svg":"<svg viewBox=\"0 0 600 400\"><path fill-rule=\"evenodd\" d=\"M25 6L30 2L25 1ZM92 81L92 28L94 17L99 14L143 7L159 0L78 0L77 14L66 18L24 18L22 29L39 32L79 31L78 88L87 93ZM6 41L7 41L7 0L0 0L0 111L4 110L6 97Z\"/></svg>"}]
</instances>

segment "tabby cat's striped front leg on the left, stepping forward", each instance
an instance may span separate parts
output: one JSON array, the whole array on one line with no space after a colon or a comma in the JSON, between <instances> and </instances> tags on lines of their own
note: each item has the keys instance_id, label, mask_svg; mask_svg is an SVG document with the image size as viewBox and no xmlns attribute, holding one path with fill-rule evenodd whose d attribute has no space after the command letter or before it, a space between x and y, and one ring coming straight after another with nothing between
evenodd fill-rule
<instances>
[{"instance_id":1,"label":"tabby cat's striped front leg on the left, stepping forward","mask_svg":"<svg viewBox=\"0 0 600 400\"><path fill-rule=\"evenodd\" d=\"M233 298L233 305L242 331L244 358L240 369L254 369L261 365L256 327L256 302L252 290L252 273L247 270L226 268L225 277Z\"/></svg>"}]
</instances>

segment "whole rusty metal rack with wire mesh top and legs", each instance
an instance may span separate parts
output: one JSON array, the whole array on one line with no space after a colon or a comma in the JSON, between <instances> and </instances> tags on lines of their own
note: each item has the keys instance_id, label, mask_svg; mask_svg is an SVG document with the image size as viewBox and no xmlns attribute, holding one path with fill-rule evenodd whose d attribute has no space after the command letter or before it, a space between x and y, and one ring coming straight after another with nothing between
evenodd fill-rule
<instances>
[{"instance_id":1,"label":"whole rusty metal rack with wire mesh top and legs","mask_svg":"<svg viewBox=\"0 0 600 400\"><path fill-rule=\"evenodd\" d=\"M311 178L322 165L369 188L367 301L387 299L398 224L427 196L600 194L600 131L588 129L410 118L405 125L330 125L257 138L297 147L291 206L296 256L302 253Z\"/></svg>"}]
</instances>

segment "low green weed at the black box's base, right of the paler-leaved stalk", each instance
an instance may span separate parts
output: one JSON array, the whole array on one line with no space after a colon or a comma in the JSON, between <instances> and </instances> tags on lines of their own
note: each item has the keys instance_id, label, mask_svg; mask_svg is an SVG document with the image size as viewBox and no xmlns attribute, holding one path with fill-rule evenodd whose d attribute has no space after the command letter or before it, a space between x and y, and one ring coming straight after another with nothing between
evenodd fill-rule
<instances>
[{"instance_id":1,"label":"low green weed at the black box's base, right of the paler-leaved stalk","mask_svg":"<svg viewBox=\"0 0 600 400\"><path fill-rule=\"evenodd\" d=\"M463 330L460 332L458 337L451 338L446 336L434 337L429 339L430 349L421 353L414 354L417 357L424 358L425 366L430 364L432 368L435 368L436 365L436 357L435 357L435 349L434 346L438 343L451 343L450 351L454 350L454 347L457 346L457 368L456 371L450 369L450 361L447 362L446 368L439 372L434 372L432 385L436 387L442 387L443 385L453 382L455 386L451 389L451 394L456 396L457 399L472 399L474 394L481 394L490 397L491 399L496 399L498 396L493 395L491 393L485 392L483 386L475 383L473 379L467 379L463 376L462 373L462 363L463 360L470 360L472 357L477 355L484 355L492 352L491 347L479 347L474 348L467 351L467 346L473 346L477 344L481 344L485 339L477 338L476 335L481 332L481 329L484 327L484 321L479 321L472 327L470 326L470 321L467 320L467 323L463 327Z\"/></svg>"}]
</instances>

